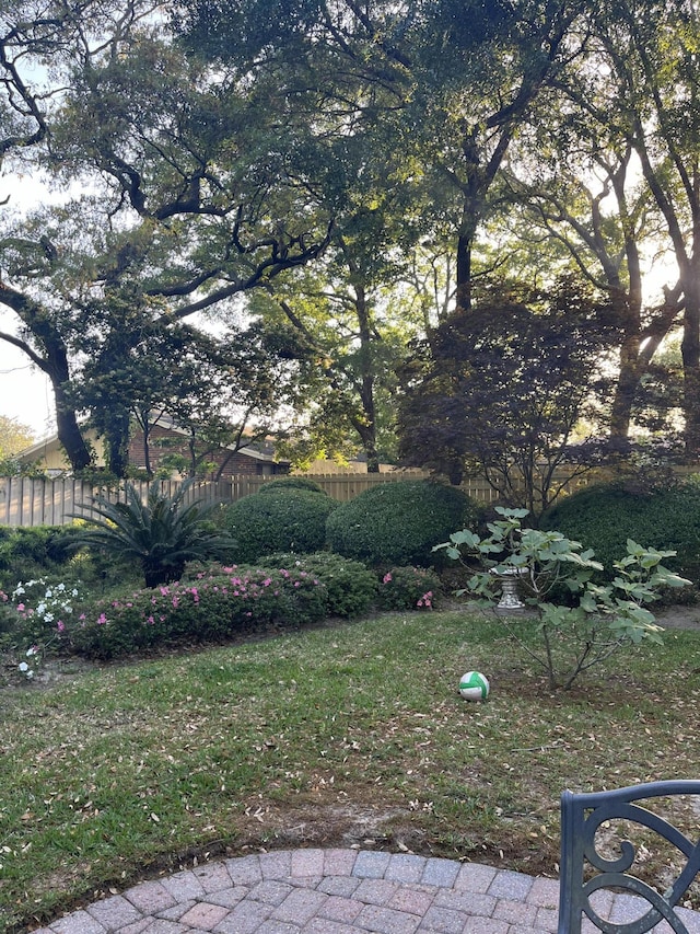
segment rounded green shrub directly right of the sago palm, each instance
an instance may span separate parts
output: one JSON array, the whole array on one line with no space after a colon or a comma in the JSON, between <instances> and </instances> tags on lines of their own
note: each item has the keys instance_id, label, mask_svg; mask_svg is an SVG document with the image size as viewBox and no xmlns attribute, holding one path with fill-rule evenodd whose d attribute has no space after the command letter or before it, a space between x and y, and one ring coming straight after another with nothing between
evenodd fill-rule
<instances>
[{"instance_id":1,"label":"rounded green shrub directly right of the sago palm","mask_svg":"<svg viewBox=\"0 0 700 934\"><path fill-rule=\"evenodd\" d=\"M222 510L222 524L235 540L233 560L258 561L273 552L319 551L326 519L338 504L310 489L254 493Z\"/></svg>"}]
</instances>

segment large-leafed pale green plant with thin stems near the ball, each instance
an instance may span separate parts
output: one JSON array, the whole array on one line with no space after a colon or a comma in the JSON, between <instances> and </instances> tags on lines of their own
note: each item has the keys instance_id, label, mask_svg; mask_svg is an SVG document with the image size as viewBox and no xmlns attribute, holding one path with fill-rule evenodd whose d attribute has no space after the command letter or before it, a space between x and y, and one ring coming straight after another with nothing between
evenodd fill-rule
<instances>
[{"instance_id":1,"label":"large-leafed pale green plant with thin stems near the ball","mask_svg":"<svg viewBox=\"0 0 700 934\"><path fill-rule=\"evenodd\" d=\"M517 614L499 611L511 634L548 679L549 688L571 688L576 678L626 645L646 639L661 642L649 604L658 599L665 587L689 584L662 562L673 551L644 547L631 539L627 555L612 563L614 579L597 585L592 579L603 565L595 561L592 549L561 532L524 528L526 509L495 511L502 517L489 522L489 535L480 538L464 529L436 545L448 557L472 569L458 595L470 595L498 610L501 581L515 577L525 604L535 620L525 619L518 626ZM530 638L532 627L538 639Z\"/></svg>"}]
</instances>

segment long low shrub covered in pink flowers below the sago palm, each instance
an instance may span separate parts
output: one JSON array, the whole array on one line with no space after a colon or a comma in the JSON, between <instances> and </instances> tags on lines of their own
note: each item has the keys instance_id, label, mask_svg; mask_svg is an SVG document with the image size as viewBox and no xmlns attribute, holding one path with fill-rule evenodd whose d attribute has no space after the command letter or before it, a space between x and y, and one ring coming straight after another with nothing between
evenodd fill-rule
<instances>
[{"instance_id":1,"label":"long low shrub covered in pink flowers below the sago palm","mask_svg":"<svg viewBox=\"0 0 700 934\"><path fill-rule=\"evenodd\" d=\"M155 646L290 629L326 612L324 585L299 568L228 567L98 603L68 632L74 652L115 658Z\"/></svg>"}]
</instances>

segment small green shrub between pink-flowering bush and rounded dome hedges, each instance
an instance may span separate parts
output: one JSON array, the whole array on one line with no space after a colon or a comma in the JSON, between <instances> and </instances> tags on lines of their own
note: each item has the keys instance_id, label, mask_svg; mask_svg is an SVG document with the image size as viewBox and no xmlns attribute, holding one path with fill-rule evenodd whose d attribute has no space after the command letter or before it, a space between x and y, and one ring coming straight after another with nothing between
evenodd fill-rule
<instances>
[{"instance_id":1,"label":"small green shrub between pink-flowering bush and rounded dome hedges","mask_svg":"<svg viewBox=\"0 0 700 934\"><path fill-rule=\"evenodd\" d=\"M318 577L325 586L329 616L358 616L376 597L376 575L361 562L339 554L273 554L265 563L268 567L296 567Z\"/></svg>"}]
</instances>

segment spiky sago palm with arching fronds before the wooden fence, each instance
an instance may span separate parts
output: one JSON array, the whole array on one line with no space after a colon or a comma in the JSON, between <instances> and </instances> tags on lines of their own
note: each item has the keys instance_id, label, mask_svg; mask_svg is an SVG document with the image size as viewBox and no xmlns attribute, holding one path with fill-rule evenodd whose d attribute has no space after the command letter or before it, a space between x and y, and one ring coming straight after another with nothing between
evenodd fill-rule
<instances>
[{"instance_id":1,"label":"spiky sago palm with arching fronds before the wooden fence","mask_svg":"<svg viewBox=\"0 0 700 934\"><path fill-rule=\"evenodd\" d=\"M105 496L97 496L91 504L81 504L96 517L84 520L91 528L79 537L80 544L101 547L115 557L137 560L147 587L177 580L188 561L224 558L234 541L208 521L213 506L185 504L191 484L187 481L174 496L167 496L155 482L142 503L129 483L126 503L110 503Z\"/></svg>"}]
</instances>

